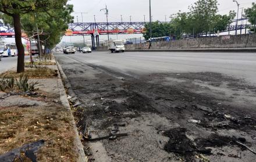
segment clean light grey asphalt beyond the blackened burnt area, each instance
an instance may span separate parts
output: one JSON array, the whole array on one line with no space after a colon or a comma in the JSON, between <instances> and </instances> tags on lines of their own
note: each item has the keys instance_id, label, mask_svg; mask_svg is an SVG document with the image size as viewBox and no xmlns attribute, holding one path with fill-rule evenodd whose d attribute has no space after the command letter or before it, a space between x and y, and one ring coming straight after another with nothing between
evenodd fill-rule
<instances>
[{"instance_id":1,"label":"clean light grey asphalt beyond the blackened burnt area","mask_svg":"<svg viewBox=\"0 0 256 162\"><path fill-rule=\"evenodd\" d=\"M151 73L222 73L256 84L255 53L93 52L65 55L74 62L104 66L134 77Z\"/></svg>"}]
</instances>

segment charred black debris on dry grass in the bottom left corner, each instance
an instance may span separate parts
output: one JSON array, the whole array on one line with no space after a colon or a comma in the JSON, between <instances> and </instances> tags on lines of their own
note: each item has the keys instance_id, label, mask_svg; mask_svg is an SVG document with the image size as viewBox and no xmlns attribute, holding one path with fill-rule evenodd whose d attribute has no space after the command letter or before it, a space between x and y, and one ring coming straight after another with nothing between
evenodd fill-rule
<instances>
[{"instance_id":1,"label":"charred black debris on dry grass in the bottom left corner","mask_svg":"<svg viewBox=\"0 0 256 162\"><path fill-rule=\"evenodd\" d=\"M44 145L44 142L44 140L40 140L23 145L17 149L13 149L10 152L0 155L0 161L15 161L17 158L19 158L20 161L23 161L20 154L24 152L27 158L33 162L36 162L37 157L35 156L35 153L42 145Z\"/></svg>"}]
</instances>

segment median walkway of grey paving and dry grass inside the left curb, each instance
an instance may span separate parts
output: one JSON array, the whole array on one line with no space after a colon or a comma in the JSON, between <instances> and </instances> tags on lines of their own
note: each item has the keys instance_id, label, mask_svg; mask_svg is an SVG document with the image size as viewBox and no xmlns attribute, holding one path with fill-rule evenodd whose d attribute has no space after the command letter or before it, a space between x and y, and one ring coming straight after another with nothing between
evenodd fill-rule
<instances>
[{"instance_id":1,"label":"median walkway of grey paving and dry grass inside the left curb","mask_svg":"<svg viewBox=\"0 0 256 162\"><path fill-rule=\"evenodd\" d=\"M59 73L30 78L40 85L33 96L0 92L0 161L11 150L38 140L44 143L35 151L38 161L87 161ZM20 157L27 161L29 156L25 152Z\"/></svg>"}]
</instances>

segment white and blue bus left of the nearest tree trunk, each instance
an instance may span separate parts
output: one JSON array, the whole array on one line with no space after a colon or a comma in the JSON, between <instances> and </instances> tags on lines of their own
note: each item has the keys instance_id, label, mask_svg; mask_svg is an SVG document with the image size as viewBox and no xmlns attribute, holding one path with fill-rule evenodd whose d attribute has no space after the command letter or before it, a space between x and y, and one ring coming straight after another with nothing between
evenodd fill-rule
<instances>
[{"instance_id":1,"label":"white and blue bus left of the nearest tree trunk","mask_svg":"<svg viewBox=\"0 0 256 162\"><path fill-rule=\"evenodd\" d=\"M17 47L15 44L1 44L0 54L2 55L2 57L17 56Z\"/></svg>"}]
</instances>

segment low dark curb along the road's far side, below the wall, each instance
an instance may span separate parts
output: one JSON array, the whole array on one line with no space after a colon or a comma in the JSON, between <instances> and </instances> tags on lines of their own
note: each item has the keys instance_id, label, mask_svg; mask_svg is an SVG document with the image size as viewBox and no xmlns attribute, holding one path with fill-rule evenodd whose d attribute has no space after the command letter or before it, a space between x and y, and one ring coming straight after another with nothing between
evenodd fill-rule
<instances>
[{"instance_id":1,"label":"low dark curb along the road's far side, below the wall","mask_svg":"<svg viewBox=\"0 0 256 162\"><path fill-rule=\"evenodd\" d=\"M256 48L227 49L127 49L126 52L256 52Z\"/></svg>"}]
</instances>

